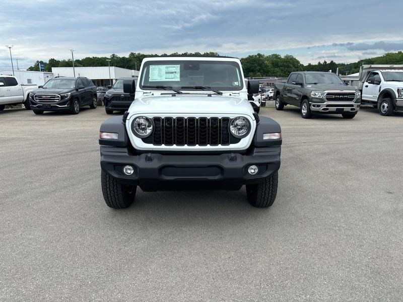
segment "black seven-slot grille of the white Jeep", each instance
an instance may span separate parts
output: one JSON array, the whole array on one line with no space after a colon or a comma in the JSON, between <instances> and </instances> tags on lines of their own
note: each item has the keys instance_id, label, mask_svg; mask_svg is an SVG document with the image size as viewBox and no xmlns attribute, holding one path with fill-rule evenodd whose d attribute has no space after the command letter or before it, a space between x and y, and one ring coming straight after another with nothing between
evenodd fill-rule
<instances>
[{"instance_id":1,"label":"black seven-slot grille of the white Jeep","mask_svg":"<svg viewBox=\"0 0 403 302\"><path fill-rule=\"evenodd\" d=\"M241 139L228 130L229 117L154 117L154 132L143 142L153 145L217 146L238 143Z\"/></svg>"}]
</instances>

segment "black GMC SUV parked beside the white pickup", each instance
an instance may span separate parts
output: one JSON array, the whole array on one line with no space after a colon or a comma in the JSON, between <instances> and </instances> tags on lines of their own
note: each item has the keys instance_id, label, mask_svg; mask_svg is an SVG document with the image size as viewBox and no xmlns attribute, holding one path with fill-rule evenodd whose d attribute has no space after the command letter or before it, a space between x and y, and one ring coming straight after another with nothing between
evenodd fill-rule
<instances>
[{"instance_id":1,"label":"black GMC SUV parked beside the white pickup","mask_svg":"<svg viewBox=\"0 0 403 302\"><path fill-rule=\"evenodd\" d=\"M97 88L87 78L55 77L32 91L29 102L35 114L44 111L78 114L83 106L97 108Z\"/></svg>"}]
</instances>

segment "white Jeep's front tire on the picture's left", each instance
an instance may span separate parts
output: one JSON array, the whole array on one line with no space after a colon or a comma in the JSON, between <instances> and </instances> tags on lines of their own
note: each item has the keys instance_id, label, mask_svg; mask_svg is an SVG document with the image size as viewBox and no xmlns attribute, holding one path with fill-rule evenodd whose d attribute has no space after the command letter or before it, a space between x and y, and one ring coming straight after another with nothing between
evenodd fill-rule
<instances>
[{"instance_id":1,"label":"white Jeep's front tire on the picture's left","mask_svg":"<svg viewBox=\"0 0 403 302\"><path fill-rule=\"evenodd\" d=\"M101 187L107 206L114 209L129 207L136 196L137 186L119 184L116 179L101 170Z\"/></svg>"}]
</instances>

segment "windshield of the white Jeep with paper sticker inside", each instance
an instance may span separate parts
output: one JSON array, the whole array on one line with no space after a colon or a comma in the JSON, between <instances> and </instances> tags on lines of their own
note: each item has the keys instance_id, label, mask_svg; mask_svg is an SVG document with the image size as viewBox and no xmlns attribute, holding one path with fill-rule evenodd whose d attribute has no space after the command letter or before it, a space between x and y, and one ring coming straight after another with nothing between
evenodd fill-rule
<instances>
[{"instance_id":1,"label":"windshield of the white Jeep with paper sticker inside","mask_svg":"<svg viewBox=\"0 0 403 302\"><path fill-rule=\"evenodd\" d=\"M155 86L180 90L209 88L215 90L241 90L243 80L240 66L232 61L148 61L144 63L140 88L161 89Z\"/></svg>"}]
</instances>

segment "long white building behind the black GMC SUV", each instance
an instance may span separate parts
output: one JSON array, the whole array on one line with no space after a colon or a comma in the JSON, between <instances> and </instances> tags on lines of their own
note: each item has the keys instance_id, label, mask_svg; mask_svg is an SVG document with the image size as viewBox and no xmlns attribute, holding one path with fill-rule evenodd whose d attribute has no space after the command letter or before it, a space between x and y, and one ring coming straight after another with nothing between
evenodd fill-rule
<instances>
[{"instance_id":1,"label":"long white building behind the black GMC SUV","mask_svg":"<svg viewBox=\"0 0 403 302\"><path fill-rule=\"evenodd\" d=\"M108 66L101 67L75 67L76 77L86 77L95 86L109 85L109 68ZM52 67L54 77L74 77L73 67ZM139 71L130 70L115 66L110 66L110 79L111 84L115 83L119 78L135 78L139 77Z\"/></svg>"}]
</instances>

